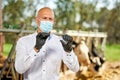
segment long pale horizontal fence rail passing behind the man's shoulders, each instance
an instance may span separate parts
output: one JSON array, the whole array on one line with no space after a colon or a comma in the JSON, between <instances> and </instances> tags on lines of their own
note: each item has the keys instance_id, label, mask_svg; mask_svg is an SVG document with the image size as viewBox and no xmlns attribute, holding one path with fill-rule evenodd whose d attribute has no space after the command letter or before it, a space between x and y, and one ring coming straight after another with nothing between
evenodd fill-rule
<instances>
[{"instance_id":1,"label":"long pale horizontal fence rail passing behind the man's shoulders","mask_svg":"<svg viewBox=\"0 0 120 80\"><path fill-rule=\"evenodd\" d=\"M34 33L35 30L18 30L18 29L0 29L0 32L10 32L10 33ZM62 31L60 32L54 32L55 34L61 35L63 34ZM66 34L69 34L71 36L84 36L84 37L107 37L107 33L105 32L86 32L86 31L73 31L73 30L68 30Z\"/></svg>"}]
</instances>

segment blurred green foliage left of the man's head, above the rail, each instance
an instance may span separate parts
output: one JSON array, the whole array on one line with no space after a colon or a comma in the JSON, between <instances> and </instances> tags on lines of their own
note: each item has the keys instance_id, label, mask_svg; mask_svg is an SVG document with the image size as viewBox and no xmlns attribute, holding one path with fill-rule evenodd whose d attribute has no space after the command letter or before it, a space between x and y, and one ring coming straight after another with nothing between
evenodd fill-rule
<instances>
[{"instance_id":1,"label":"blurred green foliage left of the man's head, above the rail","mask_svg":"<svg viewBox=\"0 0 120 80\"><path fill-rule=\"evenodd\" d=\"M31 27L32 20L35 19L35 6L32 0L8 0L6 3L8 4L3 7L3 25L5 28L19 29L23 25ZM31 15L28 16L29 14Z\"/></svg>"}]
</instances>

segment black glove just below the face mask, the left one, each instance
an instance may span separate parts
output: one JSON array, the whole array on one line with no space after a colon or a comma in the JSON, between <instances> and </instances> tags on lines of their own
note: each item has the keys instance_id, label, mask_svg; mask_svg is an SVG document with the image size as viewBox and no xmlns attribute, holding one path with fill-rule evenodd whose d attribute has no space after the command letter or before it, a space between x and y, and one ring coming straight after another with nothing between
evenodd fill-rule
<instances>
[{"instance_id":1,"label":"black glove just below the face mask, the left one","mask_svg":"<svg viewBox=\"0 0 120 80\"><path fill-rule=\"evenodd\" d=\"M50 35L49 33L45 33L45 32L38 33L38 35L36 36L36 44L35 44L35 48L38 51L45 44L45 41L49 35Z\"/></svg>"}]
</instances>

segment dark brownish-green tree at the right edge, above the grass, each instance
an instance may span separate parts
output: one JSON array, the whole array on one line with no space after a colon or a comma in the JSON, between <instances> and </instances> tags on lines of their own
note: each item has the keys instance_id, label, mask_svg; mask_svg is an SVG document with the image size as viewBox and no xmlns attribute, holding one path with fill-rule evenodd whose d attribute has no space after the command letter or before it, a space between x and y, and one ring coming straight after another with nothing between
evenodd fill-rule
<instances>
[{"instance_id":1,"label":"dark brownish-green tree at the right edge, above the grass","mask_svg":"<svg viewBox=\"0 0 120 80\"><path fill-rule=\"evenodd\" d=\"M120 43L120 11L119 6L111 10L106 21L105 29L109 43Z\"/></svg>"}]
</instances>

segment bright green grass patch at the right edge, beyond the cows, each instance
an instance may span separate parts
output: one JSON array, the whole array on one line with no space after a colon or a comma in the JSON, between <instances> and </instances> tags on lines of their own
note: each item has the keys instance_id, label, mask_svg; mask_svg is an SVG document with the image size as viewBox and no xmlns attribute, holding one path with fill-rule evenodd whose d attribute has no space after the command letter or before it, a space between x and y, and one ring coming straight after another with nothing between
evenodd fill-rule
<instances>
[{"instance_id":1,"label":"bright green grass patch at the right edge, beyond the cows","mask_svg":"<svg viewBox=\"0 0 120 80\"><path fill-rule=\"evenodd\" d=\"M106 45L105 57L108 61L120 61L120 44Z\"/></svg>"}]
</instances>

